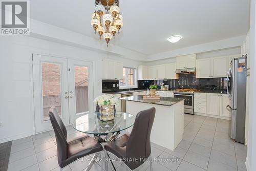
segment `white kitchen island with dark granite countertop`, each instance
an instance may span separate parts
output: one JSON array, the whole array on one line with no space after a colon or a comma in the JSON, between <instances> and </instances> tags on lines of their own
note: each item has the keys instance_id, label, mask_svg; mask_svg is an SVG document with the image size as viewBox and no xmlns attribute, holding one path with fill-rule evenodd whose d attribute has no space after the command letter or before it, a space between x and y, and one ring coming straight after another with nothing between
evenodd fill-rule
<instances>
[{"instance_id":1,"label":"white kitchen island with dark granite countertop","mask_svg":"<svg viewBox=\"0 0 256 171\"><path fill-rule=\"evenodd\" d=\"M126 112L137 115L155 107L156 115L151 131L151 142L172 151L182 140L184 131L184 104L182 98L161 97L158 101L143 100L142 95L120 98L126 101ZM132 129L128 130L131 132Z\"/></svg>"}]
</instances>

